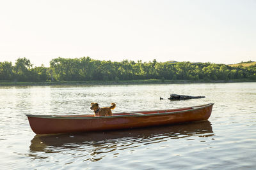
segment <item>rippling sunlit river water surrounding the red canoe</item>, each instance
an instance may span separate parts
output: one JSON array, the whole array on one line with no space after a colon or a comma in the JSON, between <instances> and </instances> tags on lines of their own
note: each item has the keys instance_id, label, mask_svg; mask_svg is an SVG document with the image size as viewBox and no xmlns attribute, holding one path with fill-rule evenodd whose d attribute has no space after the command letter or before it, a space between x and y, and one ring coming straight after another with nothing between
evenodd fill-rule
<instances>
[{"instance_id":1,"label":"rippling sunlit river water surrounding the red canoe","mask_svg":"<svg viewBox=\"0 0 256 170\"><path fill-rule=\"evenodd\" d=\"M92 113L92 102L115 102L113 112L215 104L205 122L84 134L38 136L25 116ZM0 87L0 104L0 169L256 167L256 83Z\"/></svg>"}]
</instances>

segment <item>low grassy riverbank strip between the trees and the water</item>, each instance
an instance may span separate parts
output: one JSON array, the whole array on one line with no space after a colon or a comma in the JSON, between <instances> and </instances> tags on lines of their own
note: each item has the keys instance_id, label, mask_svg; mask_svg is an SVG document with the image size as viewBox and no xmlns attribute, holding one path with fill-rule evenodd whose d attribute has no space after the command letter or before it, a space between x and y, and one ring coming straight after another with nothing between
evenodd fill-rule
<instances>
[{"instance_id":1,"label":"low grassy riverbank strip between the trees and the water","mask_svg":"<svg viewBox=\"0 0 256 170\"><path fill-rule=\"evenodd\" d=\"M140 84L184 84L184 83L236 83L236 82L256 82L250 79L234 80L120 80L120 81L45 81L45 82L13 82L0 81L0 86L47 86L47 85L140 85Z\"/></svg>"}]
</instances>

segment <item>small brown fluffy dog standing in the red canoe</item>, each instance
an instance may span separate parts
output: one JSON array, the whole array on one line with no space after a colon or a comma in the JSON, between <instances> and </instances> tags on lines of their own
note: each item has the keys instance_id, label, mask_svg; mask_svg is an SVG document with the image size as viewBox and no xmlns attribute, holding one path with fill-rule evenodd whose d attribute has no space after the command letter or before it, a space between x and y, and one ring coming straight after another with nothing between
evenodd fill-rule
<instances>
[{"instance_id":1,"label":"small brown fluffy dog standing in the red canoe","mask_svg":"<svg viewBox=\"0 0 256 170\"><path fill-rule=\"evenodd\" d=\"M115 109L116 104L115 103L111 103L111 104L112 106L110 107L100 108L98 103L91 103L92 107L90 109L94 111L94 117L112 116L111 110Z\"/></svg>"}]
</instances>

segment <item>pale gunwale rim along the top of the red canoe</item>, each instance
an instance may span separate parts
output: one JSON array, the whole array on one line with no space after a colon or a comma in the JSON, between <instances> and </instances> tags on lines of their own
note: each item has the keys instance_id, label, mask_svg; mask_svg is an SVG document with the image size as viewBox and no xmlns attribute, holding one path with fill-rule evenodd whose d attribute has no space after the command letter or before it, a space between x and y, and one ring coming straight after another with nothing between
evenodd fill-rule
<instances>
[{"instance_id":1,"label":"pale gunwale rim along the top of the red canoe","mask_svg":"<svg viewBox=\"0 0 256 170\"><path fill-rule=\"evenodd\" d=\"M122 117L149 117L149 116L156 116L156 115L173 115L177 113L184 113L184 112L189 112L189 111L196 111L196 110L202 110L204 108L207 108L209 106L212 106L214 103L209 103L209 104L204 104L200 106L191 106L187 108L191 108L188 110L180 110L180 111L170 111L170 112L164 112L164 113L148 113L148 114L143 114L141 112L147 112L147 111L132 111L132 112L119 112L119 113L124 113L127 115L115 115L118 113L113 113L113 116L107 116L107 117L77 117L77 115L31 115L31 114L26 114L26 117L34 117L34 118L57 118L57 119L105 119L105 118L122 118ZM186 109L186 108L183 108ZM164 111L164 110L150 110L150 111ZM138 113L138 114L134 114ZM129 114L129 115L128 115ZM83 116L83 115L79 115Z\"/></svg>"}]
</instances>

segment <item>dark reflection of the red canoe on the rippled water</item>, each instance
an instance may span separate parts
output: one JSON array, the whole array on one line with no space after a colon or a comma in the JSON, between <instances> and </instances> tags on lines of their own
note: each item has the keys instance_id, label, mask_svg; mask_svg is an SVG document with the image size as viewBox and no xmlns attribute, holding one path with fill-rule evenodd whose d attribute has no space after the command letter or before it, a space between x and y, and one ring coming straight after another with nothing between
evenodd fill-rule
<instances>
[{"instance_id":1,"label":"dark reflection of the red canoe on the rippled water","mask_svg":"<svg viewBox=\"0 0 256 170\"><path fill-rule=\"evenodd\" d=\"M190 138L191 136L213 136L211 122L208 120L141 129L122 129L122 131L86 132L76 134L35 135L31 140L31 152L57 152L61 148L76 149L82 145L100 147L116 146L118 143L160 143L163 139ZM104 147L102 146L102 147ZM117 146L116 146L117 147ZM57 149L58 148L58 149Z\"/></svg>"}]
</instances>

